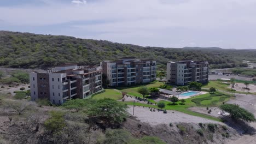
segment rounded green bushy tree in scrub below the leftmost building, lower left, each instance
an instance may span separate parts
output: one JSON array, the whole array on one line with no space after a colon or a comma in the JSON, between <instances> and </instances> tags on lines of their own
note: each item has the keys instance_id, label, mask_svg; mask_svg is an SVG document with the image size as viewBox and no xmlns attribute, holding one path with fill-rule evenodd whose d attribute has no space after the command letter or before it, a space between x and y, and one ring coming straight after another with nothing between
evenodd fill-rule
<instances>
[{"instance_id":1,"label":"rounded green bushy tree in scrub below the leftmost building, lower left","mask_svg":"<svg viewBox=\"0 0 256 144\"><path fill-rule=\"evenodd\" d=\"M50 118L46 119L46 121L44 122L44 127L46 128L46 130L49 130L51 132L62 130L66 126L63 115L63 112L51 111Z\"/></svg>"}]
</instances>

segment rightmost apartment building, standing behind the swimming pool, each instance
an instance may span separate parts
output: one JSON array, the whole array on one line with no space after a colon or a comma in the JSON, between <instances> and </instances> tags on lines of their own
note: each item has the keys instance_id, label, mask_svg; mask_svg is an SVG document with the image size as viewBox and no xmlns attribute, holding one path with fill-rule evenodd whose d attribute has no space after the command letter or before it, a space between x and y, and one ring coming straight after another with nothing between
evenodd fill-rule
<instances>
[{"instance_id":1,"label":"rightmost apartment building, standing behind the swimming pool","mask_svg":"<svg viewBox=\"0 0 256 144\"><path fill-rule=\"evenodd\" d=\"M208 62L191 60L168 62L166 81L181 86L188 85L191 81L207 83L208 72Z\"/></svg>"}]
</instances>

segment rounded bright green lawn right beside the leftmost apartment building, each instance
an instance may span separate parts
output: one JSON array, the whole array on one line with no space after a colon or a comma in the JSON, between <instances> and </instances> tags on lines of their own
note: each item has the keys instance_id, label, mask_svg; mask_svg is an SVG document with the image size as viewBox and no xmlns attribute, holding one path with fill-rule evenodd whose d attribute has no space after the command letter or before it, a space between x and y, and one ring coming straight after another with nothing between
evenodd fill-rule
<instances>
[{"instance_id":1,"label":"rounded bright green lawn right beside the leftmost apartment building","mask_svg":"<svg viewBox=\"0 0 256 144\"><path fill-rule=\"evenodd\" d=\"M104 99L110 98L114 100L119 100L122 98L122 94L114 89L105 89L105 92L96 94L92 97L92 99Z\"/></svg>"}]
</instances>

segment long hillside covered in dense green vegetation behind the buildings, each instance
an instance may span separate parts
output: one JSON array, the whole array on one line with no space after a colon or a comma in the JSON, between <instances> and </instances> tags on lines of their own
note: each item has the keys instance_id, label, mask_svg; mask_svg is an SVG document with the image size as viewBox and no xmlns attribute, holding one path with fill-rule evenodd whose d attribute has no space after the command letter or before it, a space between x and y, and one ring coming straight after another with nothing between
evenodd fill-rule
<instances>
[{"instance_id":1,"label":"long hillside covered in dense green vegetation behind the buildings","mask_svg":"<svg viewBox=\"0 0 256 144\"><path fill-rule=\"evenodd\" d=\"M212 68L244 67L242 60L256 61L254 50L224 50L218 47L184 49L142 47L106 40L0 31L0 65L12 68L46 69L66 62L99 64L120 57L155 59L160 68L180 59L208 61Z\"/></svg>"}]
</instances>

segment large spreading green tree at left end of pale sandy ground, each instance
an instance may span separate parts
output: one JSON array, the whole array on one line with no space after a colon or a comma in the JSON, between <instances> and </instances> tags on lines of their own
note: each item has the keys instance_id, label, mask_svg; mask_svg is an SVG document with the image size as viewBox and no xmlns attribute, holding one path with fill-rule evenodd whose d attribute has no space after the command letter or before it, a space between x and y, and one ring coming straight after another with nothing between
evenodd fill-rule
<instances>
[{"instance_id":1,"label":"large spreading green tree at left end of pale sandy ground","mask_svg":"<svg viewBox=\"0 0 256 144\"><path fill-rule=\"evenodd\" d=\"M113 99L100 99L91 104L86 112L91 117L106 118L110 123L120 123L127 116L127 105Z\"/></svg>"}]
</instances>

